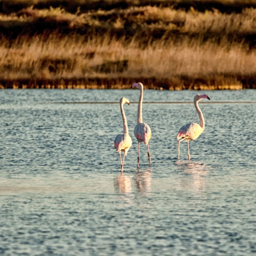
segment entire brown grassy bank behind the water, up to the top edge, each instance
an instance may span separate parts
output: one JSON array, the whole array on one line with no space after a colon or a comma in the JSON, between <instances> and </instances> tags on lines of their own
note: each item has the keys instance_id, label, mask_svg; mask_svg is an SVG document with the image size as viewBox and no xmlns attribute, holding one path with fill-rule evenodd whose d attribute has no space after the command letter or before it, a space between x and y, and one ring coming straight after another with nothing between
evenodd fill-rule
<instances>
[{"instance_id":1,"label":"entire brown grassy bank behind the water, up to the top edge","mask_svg":"<svg viewBox=\"0 0 256 256\"><path fill-rule=\"evenodd\" d=\"M256 1L2 1L0 88L256 88Z\"/></svg>"}]
</instances>

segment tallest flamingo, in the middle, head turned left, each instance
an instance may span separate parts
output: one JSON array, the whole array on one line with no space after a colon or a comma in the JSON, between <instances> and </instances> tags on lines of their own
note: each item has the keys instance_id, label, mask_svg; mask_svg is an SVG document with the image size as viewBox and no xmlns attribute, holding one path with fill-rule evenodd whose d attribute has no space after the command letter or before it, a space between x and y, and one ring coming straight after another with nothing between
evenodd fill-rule
<instances>
[{"instance_id":1,"label":"tallest flamingo, in the middle, head turned left","mask_svg":"<svg viewBox=\"0 0 256 256\"><path fill-rule=\"evenodd\" d=\"M148 142L151 139L151 129L150 126L142 121L142 100L143 100L143 84L141 82L133 83L131 88L137 88L140 90L140 98L138 104L138 116L137 116L137 124L134 128L134 135L138 141L138 164L137 167L139 168L140 162L140 142L144 142L147 145L147 156L148 162L151 165L151 158L150 158L150 146Z\"/></svg>"}]
</instances>

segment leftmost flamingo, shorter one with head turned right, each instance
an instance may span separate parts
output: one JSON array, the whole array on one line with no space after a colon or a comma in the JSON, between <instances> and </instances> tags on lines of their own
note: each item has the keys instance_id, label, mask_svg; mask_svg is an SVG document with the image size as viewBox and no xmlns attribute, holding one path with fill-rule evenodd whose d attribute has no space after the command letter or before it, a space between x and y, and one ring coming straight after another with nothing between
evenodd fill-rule
<instances>
[{"instance_id":1,"label":"leftmost flamingo, shorter one with head turned right","mask_svg":"<svg viewBox=\"0 0 256 256\"><path fill-rule=\"evenodd\" d=\"M129 135L127 120L126 120L126 116L124 114L123 105L125 103L130 105L130 101L129 101L129 99L126 99L126 98L122 97L119 102L120 102L120 110L121 110L122 119L123 119L123 133L118 134L116 136L114 146L116 148L116 151L119 153L119 158L120 158L120 163L121 163L121 172L123 172L124 158L127 155L127 152L129 151L129 148L132 146L132 139ZM123 153L123 160L122 160L122 157L121 157L121 151L124 152Z\"/></svg>"}]
</instances>

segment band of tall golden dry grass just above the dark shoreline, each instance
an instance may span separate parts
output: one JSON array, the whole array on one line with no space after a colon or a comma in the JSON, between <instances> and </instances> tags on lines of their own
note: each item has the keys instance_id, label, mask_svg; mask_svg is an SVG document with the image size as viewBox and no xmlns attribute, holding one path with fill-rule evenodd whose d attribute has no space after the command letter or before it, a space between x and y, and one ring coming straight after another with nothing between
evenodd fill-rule
<instances>
[{"instance_id":1,"label":"band of tall golden dry grass just above the dark shoreline","mask_svg":"<svg viewBox=\"0 0 256 256\"><path fill-rule=\"evenodd\" d=\"M24 39L24 38L23 38ZM2 40L2 43L3 40ZM93 38L84 41L77 35L49 38L35 36L21 41L17 39L11 47L1 44L1 77L8 78L80 78L109 77L97 73L96 67L104 62L128 60L129 66L122 72L124 77L159 77L172 75L208 74L252 74L256 70L256 51L249 51L243 45L230 47L198 40L185 40L174 44L171 40L162 44L156 41L141 49L137 41L127 44L125 40L110 37ZM56 71L49 70L50 62ZM45 65L44 65L45 64ZM61 66L61 67L60 67ZM111 74L120 75L120 74Z\"/></svg>"}]
</instances>

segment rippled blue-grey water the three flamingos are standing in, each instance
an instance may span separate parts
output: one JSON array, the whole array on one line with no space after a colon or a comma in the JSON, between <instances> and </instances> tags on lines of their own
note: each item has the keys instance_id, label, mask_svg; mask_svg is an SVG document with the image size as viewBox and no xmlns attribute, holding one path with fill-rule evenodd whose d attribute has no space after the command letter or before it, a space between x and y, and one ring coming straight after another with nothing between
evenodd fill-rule
<instances>
[{"instance_id":1,"label":"rippled blue-grey water the three flamingos are standing in","mask_svg":"<svg viewBox=\"0 0 256 256\"><path fill-rule=\"evenodd\" d=\"M141 144L137 169L138 90L1 90L0 254L255 255L256 91L200 92L205 131L178 162L197 93L144 91L152 166Z\"/></svg>"}]
</instances>

